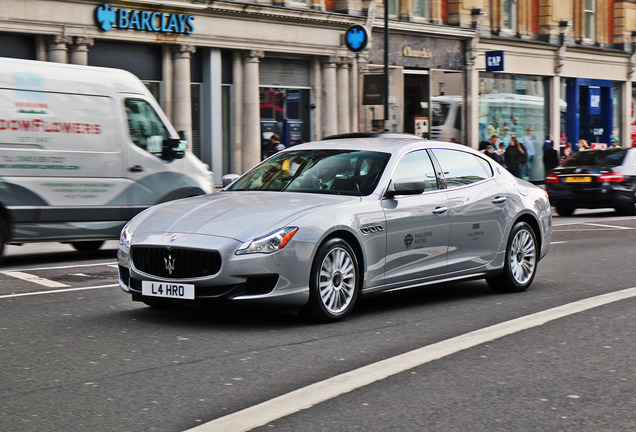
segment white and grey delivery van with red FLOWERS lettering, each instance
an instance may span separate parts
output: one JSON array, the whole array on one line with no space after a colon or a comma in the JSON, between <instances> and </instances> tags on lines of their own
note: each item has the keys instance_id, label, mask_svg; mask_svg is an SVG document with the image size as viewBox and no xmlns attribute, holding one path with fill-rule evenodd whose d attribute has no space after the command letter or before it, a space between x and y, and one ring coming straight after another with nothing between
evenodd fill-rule
<instances>
[{"instance_id":1,"label":"white and grey delivery van with red FLOWERS lettering","mask_svg":"<svg viewBox=\"0 0 636 432\"><path fill-rule=\"evenodd\" d=\"M212 189L131 73L0 58L0 254L40 241L95 250L143 209Z\"/></svg>"}]
</instances>

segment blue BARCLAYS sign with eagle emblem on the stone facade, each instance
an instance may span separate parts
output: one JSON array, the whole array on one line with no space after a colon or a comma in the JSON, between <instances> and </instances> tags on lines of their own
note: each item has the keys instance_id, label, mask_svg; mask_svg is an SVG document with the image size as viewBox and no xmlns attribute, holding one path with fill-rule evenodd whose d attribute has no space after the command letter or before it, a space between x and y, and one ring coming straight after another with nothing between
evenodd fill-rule
<instances>
[{"instance_id":1,"label":"blue BARCLAYS sign with eagle emblem on the stone facade","mask_svg":"<svg viewBox=\"0 0 636 432\"><path fill-rule=\"evenodd\" d=\"M103 31L112 28L138 30L155 33L194 33L194 16L165 14L129 9L114 9L103 4L95 9L95 20Z\"/></svg>"}]
</instances>

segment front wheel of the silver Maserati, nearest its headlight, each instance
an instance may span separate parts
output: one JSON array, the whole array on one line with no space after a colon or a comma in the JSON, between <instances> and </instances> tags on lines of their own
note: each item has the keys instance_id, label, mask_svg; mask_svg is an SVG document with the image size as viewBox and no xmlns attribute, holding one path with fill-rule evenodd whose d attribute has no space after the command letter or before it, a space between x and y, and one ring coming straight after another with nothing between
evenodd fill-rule
<instances>
[{"instance_id":1,"label":"front wheel of the silver Maserati, nearest its headlight","mask_svg":"<svg viewBox=\"0 0 636 432\"><path fill-rule=\"evenodd\" d=\"M323 243L311 267L304 315L318 322L342 320L358 299L359 274L358 260L347 242L333 238Z\"/></svg>"}]
</instances>

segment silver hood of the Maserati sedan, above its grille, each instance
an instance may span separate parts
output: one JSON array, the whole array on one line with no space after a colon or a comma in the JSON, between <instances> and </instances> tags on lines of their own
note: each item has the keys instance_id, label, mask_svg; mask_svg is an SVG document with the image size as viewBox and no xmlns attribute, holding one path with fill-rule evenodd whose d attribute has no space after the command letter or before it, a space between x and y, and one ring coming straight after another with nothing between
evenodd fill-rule
<instances>
[{"instance_id":1,"label":"silver hood of the Maserati sedan, above its grille","mask_svg":"<svg viewBox=\"0 0 636 432\"><path fill-rule=\"evenodd\" d=\"M217 192L151 207L133 219L134 234L203 234L240 242L291 224L325 206L359 197L293 192Z\"/></svg>"}]
</instances>

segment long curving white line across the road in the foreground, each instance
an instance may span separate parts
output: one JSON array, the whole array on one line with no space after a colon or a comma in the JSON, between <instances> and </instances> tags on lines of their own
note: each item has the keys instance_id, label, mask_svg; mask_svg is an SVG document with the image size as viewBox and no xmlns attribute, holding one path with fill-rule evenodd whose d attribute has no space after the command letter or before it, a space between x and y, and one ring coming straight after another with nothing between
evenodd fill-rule
<instances>
[{"instance_id":1,"label":"long curving white line across the road in the foreground","mask_svg":"<svg viewBox=\"0 0 636 432\"><path fill-rule=\"evenodd\" d=\"M392 357L237 411L186 432L240 432L264 426L360 387L504 336L608 303L636 297L636 287L565 304Z\"/></svg>"}]
</instances>

